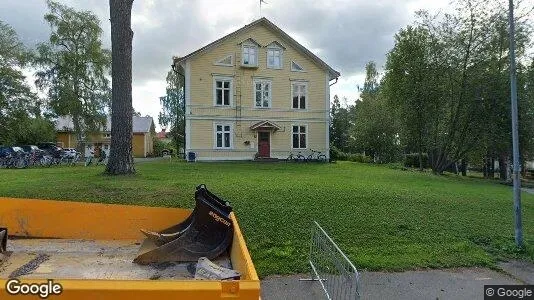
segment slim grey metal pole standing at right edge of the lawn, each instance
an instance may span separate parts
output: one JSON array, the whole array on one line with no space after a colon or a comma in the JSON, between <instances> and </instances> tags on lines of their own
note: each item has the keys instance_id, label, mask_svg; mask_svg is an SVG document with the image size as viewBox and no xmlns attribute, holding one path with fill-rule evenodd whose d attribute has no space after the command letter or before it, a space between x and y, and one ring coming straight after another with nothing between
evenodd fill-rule
<instances>
[{"instance_id":1,"label":"slim grey metal pole standing at right edge of the lawn","mask_svg":"<svg viewBox=\"0 0 534 300\"><path fill-rule=\"evenodd\" d=\"M515 66L515 25L514 1L508 0L508 22L510 23L510 98L512 101L512 144L514 156L514 215L515 215L515 244L523 246L523 226L521 224L521 179L519 178L519 133L517 120L517 78Z\"/></svg>"}]
</instances>

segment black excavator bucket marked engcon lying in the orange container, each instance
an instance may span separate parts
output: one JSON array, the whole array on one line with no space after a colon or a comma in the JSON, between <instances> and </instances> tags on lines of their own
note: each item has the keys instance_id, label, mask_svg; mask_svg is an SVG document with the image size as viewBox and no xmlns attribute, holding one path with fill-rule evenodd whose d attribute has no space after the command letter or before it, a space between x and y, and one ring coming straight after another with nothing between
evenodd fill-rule
<instances>
[{"instance_id":1,"label":"black excavator bucket marked engcon lying in the orange container","mask_svg":"<svg viewBox=\"0 0 534 300\"><path fill-rule=\"evenodd\" d=\"M214 259L228 249L234 235L230 219L232 207L203 184L196 188L195 201L195 209L182 223L160 232L141 230L147 238L141 244L135 263Z\"/></svg>"}]
</instances>

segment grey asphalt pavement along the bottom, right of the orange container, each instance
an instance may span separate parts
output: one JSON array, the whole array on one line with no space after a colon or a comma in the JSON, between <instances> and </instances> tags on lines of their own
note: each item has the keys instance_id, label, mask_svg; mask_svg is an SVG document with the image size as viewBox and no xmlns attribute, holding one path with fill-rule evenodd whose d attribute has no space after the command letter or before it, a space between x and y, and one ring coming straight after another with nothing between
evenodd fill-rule
<instances>
[{"instance_id":1,"label":"grey asphalt pavement along the bottom, right of the orange container","mask_svg":"<svg viewBox=\"0 0 534 300\"><path fill-rule=\"evenodd\" d=\"M513 275L486 268L362 272L361 299L484 299L485 284L525 284L534 280L534 265L509 262ZM309 275L275 276L262 281L262 299L325 299L317 282L299 281Z\"/></svg>"}]
</instances>

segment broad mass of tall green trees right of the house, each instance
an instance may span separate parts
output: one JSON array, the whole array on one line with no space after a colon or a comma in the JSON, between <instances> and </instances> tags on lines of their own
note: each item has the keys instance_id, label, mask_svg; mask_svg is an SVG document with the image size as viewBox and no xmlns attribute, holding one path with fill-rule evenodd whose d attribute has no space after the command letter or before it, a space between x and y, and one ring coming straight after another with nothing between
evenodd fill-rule
<instances>
[{"instance_id":1,"label":"broad mass of tall green trees right of the house","mask_svg":"<svg viewBox=\"0 0 534 300\"><path fill-rule=\"evenodd\" d=\"M467 157L506 159L511 148L507 11L493 0L455 5L452 14L419 12L413 26L396 34L383 84L405 151L429 153L437 174ZM534 137L527 117L528 20L517 20L515 37L524 153Z\"/></svg>"}]
</instances>

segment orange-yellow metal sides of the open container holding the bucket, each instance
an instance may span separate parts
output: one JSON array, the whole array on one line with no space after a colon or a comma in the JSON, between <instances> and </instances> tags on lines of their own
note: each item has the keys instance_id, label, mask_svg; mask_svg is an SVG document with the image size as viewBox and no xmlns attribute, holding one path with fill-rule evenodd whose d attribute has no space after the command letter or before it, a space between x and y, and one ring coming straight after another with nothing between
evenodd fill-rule
<instances>
[{"instance_id":1,"label":"orange-yellow metal sides of the open container holding the bucket","mask_svg":"<svg viewBox=\"0 0 534 300\"><path fill-rule=\"evenodd\" d=\"M10 236L82 240L136 240L139 229L162 230L179 223L189 209L0 197L0 227ZM235 215L230 260L240 280L113 280L32 278L22 283L62 286L49 299L259 299L260 281ZM8 241L9 243L9 241ZM8 246L9 247L9 246ZM1 266L0 266L1 268ZM0 299L9 298L8 278L0 278ZM37 299L37 296L34 296Z\"/></svg>"}]
</instances>

